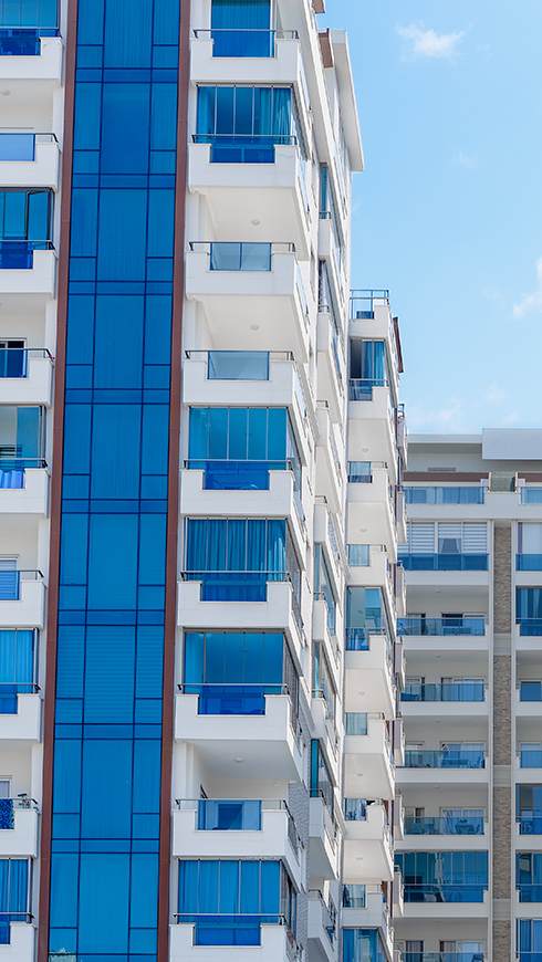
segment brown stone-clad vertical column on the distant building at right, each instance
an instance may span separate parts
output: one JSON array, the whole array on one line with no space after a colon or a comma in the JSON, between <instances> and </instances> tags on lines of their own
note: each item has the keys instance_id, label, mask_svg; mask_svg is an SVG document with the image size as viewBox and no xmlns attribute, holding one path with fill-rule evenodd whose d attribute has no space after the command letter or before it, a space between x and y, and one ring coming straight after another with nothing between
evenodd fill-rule
<instances>
[{"instance_id":1,"label":"brown stone-clad vertical column on the distant building at right","mask_svg":"<svg viewBox=\"0 0 542 962\"><path fill-rule=\"evenodd\" d=\"M493 551L493 962L510 962L512 899L512 532Z\"/></svg>"}]
</instances>

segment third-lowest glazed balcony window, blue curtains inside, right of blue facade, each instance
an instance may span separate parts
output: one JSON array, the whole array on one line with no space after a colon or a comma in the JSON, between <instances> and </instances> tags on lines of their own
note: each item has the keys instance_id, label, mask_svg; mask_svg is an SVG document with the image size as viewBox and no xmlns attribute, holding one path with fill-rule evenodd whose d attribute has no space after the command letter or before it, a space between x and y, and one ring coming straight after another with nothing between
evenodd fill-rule
<instances>
[{"instance_id":1,"label":"third-lowest glazed balcony window, blue curtains inside, right of blue facade","mask_svg":"<svg viewBox=\"0 0 542 962\"><path fill-rule=\"evenodd\" d=\"M268 582L289 577L299 610L301 566L283 520L188 517L186 572L204 602L264 602Z\"/></svg>"}]
</instances>

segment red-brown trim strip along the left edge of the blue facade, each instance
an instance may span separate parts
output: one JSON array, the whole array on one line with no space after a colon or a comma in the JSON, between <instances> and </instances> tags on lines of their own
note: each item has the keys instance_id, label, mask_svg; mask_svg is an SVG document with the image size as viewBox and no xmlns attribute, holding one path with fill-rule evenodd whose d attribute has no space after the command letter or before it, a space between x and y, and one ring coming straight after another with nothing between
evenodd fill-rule
<instances>
[{"instance_id":1,"label":"red-brown trim strip along the left edge of the blue facade","mask_svg":"<svg viewBox=\"0 0 542 962\"><path fill-rule=\"evenodd\" d=\"M62 520L62 454L64 447L64 390L66 370L67 279L72 210L73 111L77 53L77 0L69 0L64 79L64 137L62 147L62 201L58 261L56 365L54 384L53 463L48 590L45 702L43 712L43 794L41 814L40 899L38 962L49 959L49 902L51 893L51 835L53 819L54 699L56 689L56 632L59 621L60 532Z\"/></svg>"}]
</instances>

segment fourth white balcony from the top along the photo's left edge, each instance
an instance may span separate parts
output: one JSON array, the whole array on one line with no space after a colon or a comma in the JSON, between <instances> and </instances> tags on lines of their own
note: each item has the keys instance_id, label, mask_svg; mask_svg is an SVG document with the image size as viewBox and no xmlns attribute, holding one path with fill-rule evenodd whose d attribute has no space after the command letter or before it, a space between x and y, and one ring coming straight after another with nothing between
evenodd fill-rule
<instances>
[{"instance_id":1,"label":"fourth white balcony from the top along the photo's left edge","mask_svg":"<svg viewBox=\"0 0 542 962\"><path fill-rule=\"evenodd\" d=\"M53 358L46 348L0 348L0 404L51 406Z\"/></svg>"}]
</instances>

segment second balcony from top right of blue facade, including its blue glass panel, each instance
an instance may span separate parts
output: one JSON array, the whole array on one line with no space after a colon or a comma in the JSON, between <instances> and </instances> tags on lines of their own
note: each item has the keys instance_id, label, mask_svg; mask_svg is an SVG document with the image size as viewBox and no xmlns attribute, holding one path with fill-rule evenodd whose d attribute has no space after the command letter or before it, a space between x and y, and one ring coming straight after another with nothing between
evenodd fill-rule
<instances>
[{"instance_id":1,"label":"second balcony from top right of blue facade, including its blue glass panel","mask_svg":"<svg viewBox=\"0 0 542 962\"><path fill-rule=\"evenodd\" d=\"M258 238L290 238L300 259L309 260L306 165L295 138L195 135L194 140L188 147L188 187L190 194L206 197L216 228L228 224L229 238L246 240L247 231L252 232L250 211L250 219L259 221ZM220 156L216 148L220 151L222 142L226 148L233 144L234 163L211 159ZM267 163L259 160L262 156Z\"/></svg>"}]
</instances>

